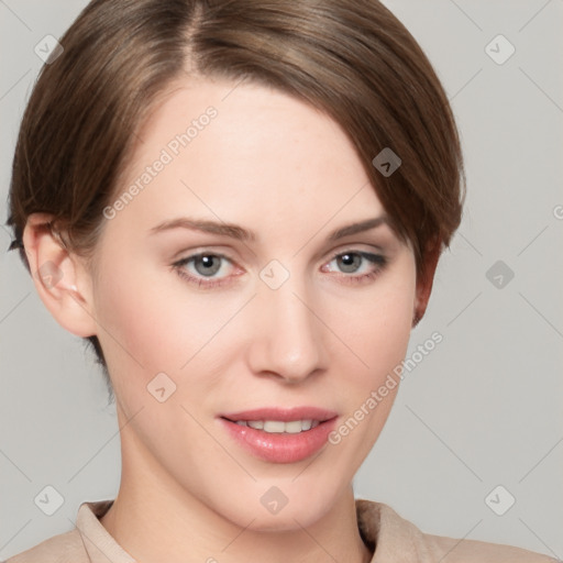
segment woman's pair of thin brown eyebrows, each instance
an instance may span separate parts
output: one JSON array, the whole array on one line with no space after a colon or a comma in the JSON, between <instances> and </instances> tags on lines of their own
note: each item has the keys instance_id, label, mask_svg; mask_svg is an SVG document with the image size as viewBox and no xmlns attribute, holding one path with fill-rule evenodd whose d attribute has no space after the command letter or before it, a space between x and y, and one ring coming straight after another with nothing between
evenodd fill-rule
<instances>
[{"instance_id":1,"label":"woman's pair of thin brown eyebrows","mask_svg":"<svg viewBox=\"0 0 563 563\"><path fill-rule=\"evenodd\" d=\"M366 219L364 221L358 221L356 223L347 224L345 227L341 227L334 231L332 231L327 240L332 242L339 239L343 239L344 236L350 236L352 234L357 234L364 231L368 231L371 229L375 229L382 224L388 224L389 221L387 217L380 216L375 217L373 219ZM164 221L156 227L150 229L150 234L161 233L163 231L169 231L172 229L189 229L191 231L201 231L205 233L219 234L222 236L230 236L232 239L236 239L239 241L256 241L257 235L253 231L249 231L238 224L233 223L224 223L224 222L216 222L202 219L191 219L188 217L179 217L177 219L170 219Z\"/></svg>"}]
</instances>

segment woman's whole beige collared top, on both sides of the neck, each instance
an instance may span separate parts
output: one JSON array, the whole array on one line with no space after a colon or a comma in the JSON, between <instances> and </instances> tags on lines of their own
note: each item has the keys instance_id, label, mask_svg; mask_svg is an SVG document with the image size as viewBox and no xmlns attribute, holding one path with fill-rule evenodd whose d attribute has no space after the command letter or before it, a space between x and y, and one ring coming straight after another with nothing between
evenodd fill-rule
<instances>
[{"instance_id":1,"label":"woman's whole beige collared top, on both sides of the neck","mask_svg":"<svg viewBox=\"0 0 563 563\"><path fill-rule=\"evenodd\" d=\"M76 528L54 536L4 563L134 563L103 528L101 518L113 500L82 503ZM372 563L548 563L555 559L509 545L455 540L422 533L382 503L356 499L362 539Z\"/></svg>"}]
</instances>

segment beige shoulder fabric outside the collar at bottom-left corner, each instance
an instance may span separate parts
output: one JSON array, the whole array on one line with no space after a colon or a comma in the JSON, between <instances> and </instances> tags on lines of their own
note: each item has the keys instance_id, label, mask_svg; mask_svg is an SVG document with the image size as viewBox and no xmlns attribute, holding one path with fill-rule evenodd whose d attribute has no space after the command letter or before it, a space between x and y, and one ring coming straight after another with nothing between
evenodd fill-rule
<instances>
[{"instance_id":1,"label":"beige shoulder fabric outside the collar at bottom-left corner","mask_svg":"<svg viewBox=\"0 0 563 563\"><path fill-rule=\"evenodd\" d=\"M89 562L79 531L54 536L3 563L82 563Z\"/></svg>"}]
</instances>

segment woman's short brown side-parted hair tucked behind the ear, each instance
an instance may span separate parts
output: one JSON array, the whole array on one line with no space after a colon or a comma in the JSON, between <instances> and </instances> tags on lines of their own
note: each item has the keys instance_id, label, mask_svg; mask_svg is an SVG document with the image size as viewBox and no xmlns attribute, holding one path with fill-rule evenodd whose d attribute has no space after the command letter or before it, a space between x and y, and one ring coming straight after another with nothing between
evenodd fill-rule
<instances>
[{"instance_id":1,"label":"woman's short brown side-parted hair tucked behind the ear","mask_svg":"<svg viewBox=\"0 0 563 563\"><path fill-rule=\"evenodd\" d=\"M449 245L460 224L465 178L448 97L376 0L93 0L60 44L34 86L13 159L7 224L27 269L22 234L36 211L91 260L136 132L158 93L196 73L274 87L335 120L412 243L418 273L429 246ZM372 163L384 148L401 159L390 176ZM88 340L110 386L99 341Z\"/></svg>"}]
</instances>

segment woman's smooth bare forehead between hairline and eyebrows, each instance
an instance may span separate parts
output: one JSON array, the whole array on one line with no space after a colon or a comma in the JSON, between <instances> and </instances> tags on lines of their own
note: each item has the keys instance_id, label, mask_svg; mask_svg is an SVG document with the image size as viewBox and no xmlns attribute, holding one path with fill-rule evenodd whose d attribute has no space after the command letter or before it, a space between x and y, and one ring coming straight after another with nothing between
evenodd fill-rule
<instances>
[{"instance_id":1,"label":"woman's smooth bare forehead between hairline and eyebrows","mask_svg":"<svg viewBox=\"0 0 563 563\"><path fill-rule=\"evenodd\" d=\"M265 86L176 82L139 136L118 191L137 188L119 213L130 225L186 214L310 236L384 212L339 124Z\"/></svg>"}]
</instances>

